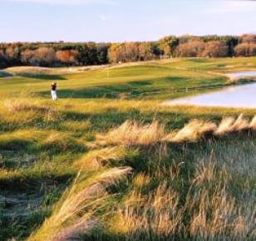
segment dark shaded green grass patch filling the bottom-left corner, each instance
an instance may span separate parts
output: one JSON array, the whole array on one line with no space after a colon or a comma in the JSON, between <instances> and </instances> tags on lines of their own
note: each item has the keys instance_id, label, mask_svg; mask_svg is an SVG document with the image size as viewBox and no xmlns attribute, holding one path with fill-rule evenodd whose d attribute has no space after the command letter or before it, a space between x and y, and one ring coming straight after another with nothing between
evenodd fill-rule
<instances>
[{"instance_id":1,"label":"dark shaded green grass patch filling the bottom-left corner","mask_svg":"<svg viewBox=\"0 0 256 241\"><path fill-rule=\"evenodd\" d=\"M51 216L65 189L66 185L55 184L48 189L2 192L6 202L0 212L0 240L25 240Z\"/></svg>"}]
</instances>

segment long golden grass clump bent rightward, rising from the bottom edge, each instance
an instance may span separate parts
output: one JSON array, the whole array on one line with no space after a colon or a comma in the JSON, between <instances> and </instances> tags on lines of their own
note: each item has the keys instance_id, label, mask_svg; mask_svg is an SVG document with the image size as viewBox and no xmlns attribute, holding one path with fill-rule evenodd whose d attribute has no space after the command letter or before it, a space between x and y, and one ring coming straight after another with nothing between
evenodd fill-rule
<instances>
[{"instance_id":1,"label":"long golden grass clump bent rightward, rising from the bottom edge","mask_svg":"<svg viewBox=\"0 0 256 241\"><path fill-rule=\"evenodd\" d=\"M109 197L106 187L117 184L130 171L130 167L112 168L84 181L79 180L78 175L71 189L57 204L52 216L28 240L73 240L91 229L96 220L94 214L102 209Z\"/></svg>"}]
</instances>

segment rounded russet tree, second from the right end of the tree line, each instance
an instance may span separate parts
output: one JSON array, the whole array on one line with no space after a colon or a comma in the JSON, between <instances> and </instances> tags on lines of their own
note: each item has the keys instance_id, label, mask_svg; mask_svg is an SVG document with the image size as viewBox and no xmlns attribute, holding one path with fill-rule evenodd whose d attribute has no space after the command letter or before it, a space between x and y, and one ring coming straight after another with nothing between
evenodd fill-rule
<instances>
[{"instance_id":1,"label":"rounded russet tree, second from the right end of the tree line","mask_svg":"<svg viewBox=\"0 0 256 241\"><path fill-rule=\"evenodd\" d=\"M229 47L221 41L210 41L205 43L204 52L201 57L227 57Z\"/></svg>"}]
</instances>

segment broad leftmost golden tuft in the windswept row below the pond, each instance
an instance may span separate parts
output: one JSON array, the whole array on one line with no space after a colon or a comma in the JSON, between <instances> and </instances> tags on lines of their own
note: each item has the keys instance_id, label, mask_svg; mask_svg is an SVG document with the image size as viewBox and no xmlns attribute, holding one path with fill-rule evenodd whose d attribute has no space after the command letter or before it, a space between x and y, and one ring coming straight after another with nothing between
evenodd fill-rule
<instances>
[{"instance_id":1,"label":"broad leftmost golden tuft in the windswept row below the pond","mask_svg":"<svg viewBox=\"0 0 256 241\"><path fill-rule=\"evenodd\" d=\"M164 136L165 125L153 121L148 125L140 125L131 120L110 130L106 135L97 135L96 141L103 145L154 145Z\"/></svg>"}]
</instances>

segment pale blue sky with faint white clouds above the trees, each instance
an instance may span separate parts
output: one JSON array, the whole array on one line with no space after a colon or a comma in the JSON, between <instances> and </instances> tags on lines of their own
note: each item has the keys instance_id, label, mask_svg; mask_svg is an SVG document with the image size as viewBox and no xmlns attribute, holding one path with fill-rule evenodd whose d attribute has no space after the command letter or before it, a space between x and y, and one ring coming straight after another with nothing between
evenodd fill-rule
<instances>
[{"instance_id":1,"label":"pale blue sky with faint white clouds above the trees","mask_svg":"<svg viewBox=\"0 0 256 241\"><path fill-rule=\"evenodd\" d=\"M256 33L256 1L0 0L0 42L155 41Z\"/></svg>"}]
</instances>

